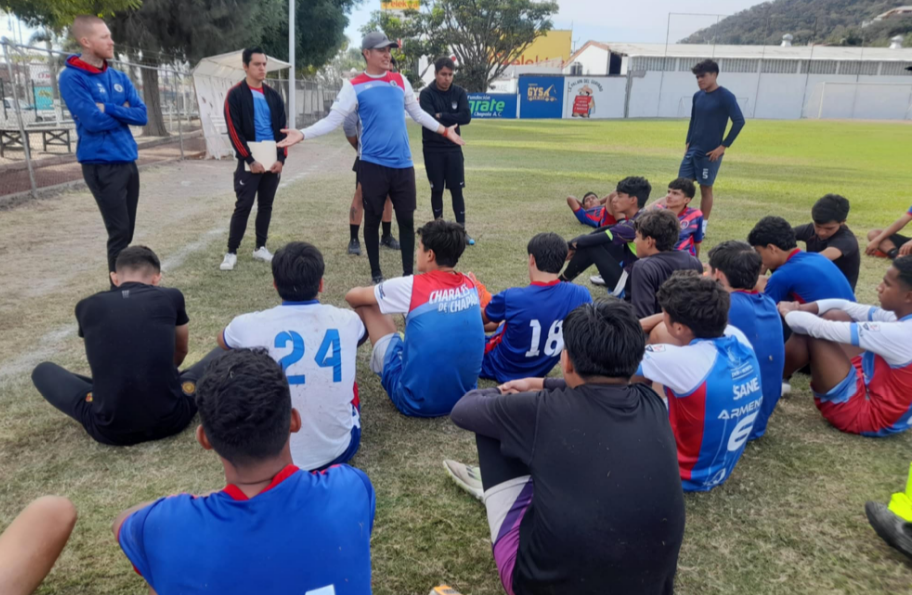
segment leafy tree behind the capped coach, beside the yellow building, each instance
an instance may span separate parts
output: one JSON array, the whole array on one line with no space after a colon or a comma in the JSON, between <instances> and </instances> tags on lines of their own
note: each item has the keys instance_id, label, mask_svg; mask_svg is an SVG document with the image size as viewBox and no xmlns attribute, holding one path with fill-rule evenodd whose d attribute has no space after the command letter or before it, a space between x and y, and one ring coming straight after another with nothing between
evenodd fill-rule
<instances>
[{"instance_id":1,"label":"leafy tree behind the capped coach, beside the yellow building","mask_svg":"<svg viewBox=\"0 0 912 595\"><path fill-rule=\"evenodd\" d=\"M374 22L390 39L403 39L407 60L412 60L411 45L417 45L417 51L449 48L446 53L456 57L460 84L485 92L533 41L551 30L551 15L557 10L556 2L533 0L429 0L421 11L408 11L401 18L375 14ZM399 36L407 33L412 35Z\"/></svg>"}]
</instances>

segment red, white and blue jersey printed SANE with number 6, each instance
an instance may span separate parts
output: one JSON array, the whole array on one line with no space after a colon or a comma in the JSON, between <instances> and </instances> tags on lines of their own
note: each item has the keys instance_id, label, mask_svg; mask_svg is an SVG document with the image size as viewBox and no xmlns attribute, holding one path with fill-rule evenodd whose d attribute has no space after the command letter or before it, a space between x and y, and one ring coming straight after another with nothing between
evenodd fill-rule
<instances>
[{"instance_id":1,"label":"red, white and blue jersey printed SANE with number 6","mask_svg":"<svg viewBox=\"0 0 912 595\"><path fill-rule=\"evenodd\" d=\"M760 366L750 342L729 326L718 339L648 345L637 375L665 386L681 484L707 492L731 475L760 414Z\"/></svg>"}]
</instances>

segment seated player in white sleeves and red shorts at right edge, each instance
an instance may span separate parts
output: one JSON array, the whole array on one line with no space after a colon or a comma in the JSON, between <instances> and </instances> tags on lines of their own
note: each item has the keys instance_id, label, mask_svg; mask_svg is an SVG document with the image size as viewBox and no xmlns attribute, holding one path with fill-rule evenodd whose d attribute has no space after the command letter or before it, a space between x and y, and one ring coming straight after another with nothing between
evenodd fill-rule
<instances>
[{"instance_id":1,"label":"seated player in white sleeves and red shorts at right edge","mask_svg":"<svg viewBox=\"0 0 912 595\"><path fill-rule=\"evenodd\" d=\"M786 373L810 364L820 413L863 436L912 425L912 256L893 261L877 294L880 308L847 300L779 304L794 332Z\"/></svg>"}]
</instances>

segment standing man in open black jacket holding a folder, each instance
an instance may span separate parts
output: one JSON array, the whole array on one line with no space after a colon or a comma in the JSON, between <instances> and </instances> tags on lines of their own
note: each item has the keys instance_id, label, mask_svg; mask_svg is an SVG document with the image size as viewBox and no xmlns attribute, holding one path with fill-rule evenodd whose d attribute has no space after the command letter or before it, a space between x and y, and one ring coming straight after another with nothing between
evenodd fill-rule
<instances>
[{"instance_id":1,"label":"standing man in open black jacket holding a folder","mask_svg":"<svg viewBox=\"0 0 912 595\"><path fill-rule=\"evenodd\" d=\"M228 91L225 98L225 123L228 138L238 158L234 171L234 192L237 202L231 215L228 232L228 253L219 268L234 270L237 250L244 239L247 218L257 198L256 250L253 257L272 262L266 248L269 221L272 218L272 201L282 174L287 149L276 149L275 163L259 163L253 158L248 142L280 141L285 138L285 103L282 96L264 84L266 80L266 54L260 48L244 50L244 71L247 78Z\"/></svg>"}]
</instances>

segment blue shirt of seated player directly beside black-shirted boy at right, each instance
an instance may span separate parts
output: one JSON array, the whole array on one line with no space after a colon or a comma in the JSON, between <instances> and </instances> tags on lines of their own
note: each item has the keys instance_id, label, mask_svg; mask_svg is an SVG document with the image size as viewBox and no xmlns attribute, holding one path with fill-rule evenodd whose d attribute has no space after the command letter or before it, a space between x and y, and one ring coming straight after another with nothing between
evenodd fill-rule
<instances>
[{"instance_id":1,"label":"blue shirt of seated player directly beside black-shirted boy at right","mask_svg":"<svg viewBox=\"0 0 912 595\"><path fill-rule=\"evenodd\" d=\"M792 250L788 260L776 269L764 293L777 304L782 301L802 304L818 300L855 301L855 293L842 271L826 256Z\"/></svg>"}]
</instances>

